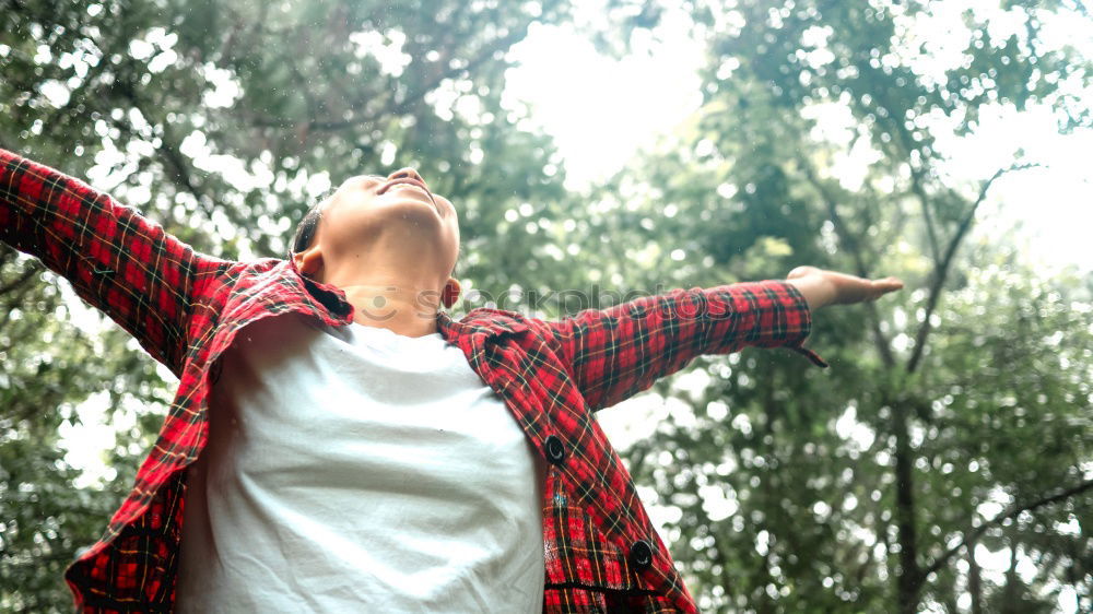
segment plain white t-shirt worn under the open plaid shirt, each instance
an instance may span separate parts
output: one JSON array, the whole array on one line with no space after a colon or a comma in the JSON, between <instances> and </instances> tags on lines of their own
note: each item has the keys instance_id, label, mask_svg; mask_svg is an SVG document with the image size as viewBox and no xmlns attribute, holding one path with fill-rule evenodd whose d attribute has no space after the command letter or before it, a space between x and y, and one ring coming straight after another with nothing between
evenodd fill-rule
<instances>
[{"instance_id":1,"label":"plain white t-shirt worn under the open plaid shirt","mask_svg":"<svg viewBox=\"0 0 1093 614\"><path fill-rule=\"evenodd\" d=\"M543 467L439 333L269 317L224 354L179 612L541 612Z\"/></svg>"}]
</instances>

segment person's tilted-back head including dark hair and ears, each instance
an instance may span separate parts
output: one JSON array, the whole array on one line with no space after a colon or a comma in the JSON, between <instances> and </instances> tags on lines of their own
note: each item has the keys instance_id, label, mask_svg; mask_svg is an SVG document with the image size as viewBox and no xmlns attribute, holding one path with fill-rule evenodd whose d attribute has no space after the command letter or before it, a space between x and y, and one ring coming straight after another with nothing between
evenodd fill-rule
<instances>
[{"instance_id":1,"label":"person's tilted-back head including dark hair and ears","mask_svg":"<svg viewBox=\"0 0 1093 614\"><path fill-rule=\"evenodd\" d=\"M296 227L291 257L301 274L339 286L362 279L442 293L451 306L459 283L459 221L451 202L412 168L345 180ZM424 286L424 287L423 287Z\"/></svg>"}]
</instances>

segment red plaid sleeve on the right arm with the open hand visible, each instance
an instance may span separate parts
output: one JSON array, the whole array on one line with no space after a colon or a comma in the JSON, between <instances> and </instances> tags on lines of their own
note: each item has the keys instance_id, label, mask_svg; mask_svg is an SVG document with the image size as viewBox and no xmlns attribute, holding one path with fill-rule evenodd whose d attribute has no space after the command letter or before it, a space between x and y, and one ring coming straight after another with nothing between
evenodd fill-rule
<instances>
[{"instance_id":1,"label":"red plaid sleeve on the right arm with the open hand visible","mask_svg":"<svg viewBox=\"0 0 1093 614\"><path fill-rule=\"evenodd\" d=\"M784 281L677 290L544 323L593 411L648 389L700 354L786 346L827 366L802 346L812 314Z\"/></svg>"}]
</instances>

